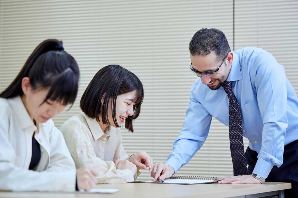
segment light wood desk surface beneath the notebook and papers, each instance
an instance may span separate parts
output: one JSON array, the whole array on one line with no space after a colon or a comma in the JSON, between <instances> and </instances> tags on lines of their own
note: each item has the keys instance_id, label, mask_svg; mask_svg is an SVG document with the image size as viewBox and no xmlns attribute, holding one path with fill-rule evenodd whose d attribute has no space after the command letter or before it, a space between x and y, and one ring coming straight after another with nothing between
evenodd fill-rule
<instances>
[{"instance_id":1,"label":"light wood desk surface beneath the notebook and papers","mask_svg":"<svg viewBox=\"0 0 298 198\"><path fill-rule=\"evenodd\" d=\"M156 183L124 183L101 184L96 188L118 188L114 194L79 194L79 193L41 193L41 192L5 192L0 191L0 197L61 197L61 198L153 198L153 197L184 197L184 198L224 198L291 188L291 183L266 182L262 185L251 184L156 184Z\"/></svg>"}]
</instances>

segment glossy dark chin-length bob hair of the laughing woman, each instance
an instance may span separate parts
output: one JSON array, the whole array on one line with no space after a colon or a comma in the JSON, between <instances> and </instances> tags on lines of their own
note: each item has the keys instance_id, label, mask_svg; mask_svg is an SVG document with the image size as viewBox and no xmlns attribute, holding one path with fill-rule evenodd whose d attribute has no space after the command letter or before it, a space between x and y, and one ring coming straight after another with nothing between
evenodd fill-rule
<instances>
[{"instance_id":1,"label":"glossy dark chin-length bob hair of the laughing woman","mask_svg":"<svg viewBox=\"0 0 298 198\"><path fill-rule=\"evenodd\" d=\"M108 103L111 100L113 122L117 127L120 127L116 117L117 96L132 91L136 91L134 114L125 119L125 128L128 131L134 132L132 121L140 114L144 89L139 78L120 65L105 66L95 74L82 95L80 108L88 117L97 120L97 122L100 121L99 115L101 115L101 122L110 125L111 123L108 120ZM105 93L106 95L102 105L101 98L103 98ZM102 110L100 111L101 106Z\"/></svg>"}]
</instances>

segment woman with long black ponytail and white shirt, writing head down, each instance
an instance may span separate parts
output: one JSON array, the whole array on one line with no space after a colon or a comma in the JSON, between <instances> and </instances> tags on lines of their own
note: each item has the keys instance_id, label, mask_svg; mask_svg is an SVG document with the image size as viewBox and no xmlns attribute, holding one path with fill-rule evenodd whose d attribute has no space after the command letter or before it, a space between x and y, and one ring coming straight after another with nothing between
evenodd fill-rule
<instances>
[{"instance_id":1,"label":"woman with long black ponytail and white shirt, writing head down","mask_svg":"<svg viewBox=\"0 0 298 198\"><path fill-rule=\"evenodd\" d=\"M76 171L51 117L73 104L79 68L62 42L40 43L14 81L0 93L0 189L89 190L96 170Z\"/></svg>"}]
</instances>

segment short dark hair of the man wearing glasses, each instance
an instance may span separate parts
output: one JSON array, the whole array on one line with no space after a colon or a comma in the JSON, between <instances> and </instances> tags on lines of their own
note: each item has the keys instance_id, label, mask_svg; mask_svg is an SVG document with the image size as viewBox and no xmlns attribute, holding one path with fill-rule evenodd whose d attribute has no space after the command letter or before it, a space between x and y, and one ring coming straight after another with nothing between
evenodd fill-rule
<instances>
[{"instance_id":1,"label":"short dark hair of the man wearing glasses","mask_svg":"<svg viewBox=\"0 0 298 198\"><path fill-rule=\"evenodd\" d=\"M193 35L189 43L189 51L193 56L207 56L214 51L218 60L223 59L229 51L226 36L219 29L203 28Z\"/></svg>"}]
</instances>

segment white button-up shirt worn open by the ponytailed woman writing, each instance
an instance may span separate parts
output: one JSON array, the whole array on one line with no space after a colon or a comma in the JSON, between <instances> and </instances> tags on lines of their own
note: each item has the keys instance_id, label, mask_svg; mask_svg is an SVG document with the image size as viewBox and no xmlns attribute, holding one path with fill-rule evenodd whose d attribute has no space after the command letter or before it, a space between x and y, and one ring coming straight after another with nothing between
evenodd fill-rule
<instances>
[{"instance_id":1,"label":"white button-up shirt worn open by the ponytailed woman writing","mask_svg":"<svg viewBox=\"0 0 298 198\"><path fill-rule=\"evenodd\" d=\"M0 190L74 191L75 164L54 122L41 123L38 131L20 96L0 98L0 109ZM34 131L41 159L28 170Z\"/></svg>"}]
</instances>

